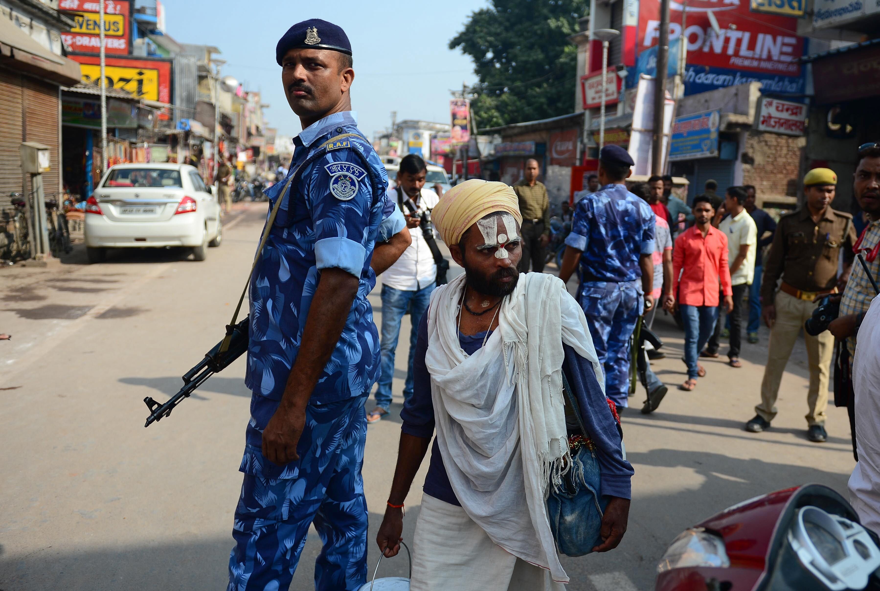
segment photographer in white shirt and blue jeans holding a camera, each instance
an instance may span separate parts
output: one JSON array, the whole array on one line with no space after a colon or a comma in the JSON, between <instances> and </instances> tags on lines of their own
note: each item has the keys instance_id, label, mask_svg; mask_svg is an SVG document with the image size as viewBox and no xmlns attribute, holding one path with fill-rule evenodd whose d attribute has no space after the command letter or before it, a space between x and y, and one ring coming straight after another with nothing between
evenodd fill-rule
<instances>
[{"instance_id":1,"label":"photographer in white shirt and blue jeans holding a camera","mask_svg":"<svg viewBox=\"0 0 880 591\"><path fill-rule=\"evenodd\" d=\"M388 190L388 199L398 204L407 219L412 244L400 259L382 274L382 375L376 387L376 408L367 415L367 422L375 423L388 414L392 400L394 353L400 337L400 320L407 311L412 330L409 338L407 381L403 398L413 395L413 355L419 321L428 309L431 292L446 282L449 262L437 248L431 225L431 209L440 198L425 187L428 167L422 157L408 154L400 160L397 186Z\"/></svg>"}]
</instances>

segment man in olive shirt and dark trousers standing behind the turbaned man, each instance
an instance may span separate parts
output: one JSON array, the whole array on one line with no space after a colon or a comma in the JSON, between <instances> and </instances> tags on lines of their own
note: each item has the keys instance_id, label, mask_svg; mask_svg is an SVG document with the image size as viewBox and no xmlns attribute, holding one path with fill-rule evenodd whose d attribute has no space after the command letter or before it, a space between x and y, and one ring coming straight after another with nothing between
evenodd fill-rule
<instances>
[{"instance_id":1,"label":"man in olive shirt and dark trousers standing behind the turbaned man","mask_svg":"<svg viewBox=\"0 0 880 591\"><path fill-rule=\"evenodd\" d=\"M523 215L520 273L528 272L530 261L535 273L544 270L544 248L550 241L550 201L547 199L547 187L538 182L539 171L538 161L529 158L525 161L524 179L513 185L519 197L519 213Z\"/></svg>"}]
</instances>

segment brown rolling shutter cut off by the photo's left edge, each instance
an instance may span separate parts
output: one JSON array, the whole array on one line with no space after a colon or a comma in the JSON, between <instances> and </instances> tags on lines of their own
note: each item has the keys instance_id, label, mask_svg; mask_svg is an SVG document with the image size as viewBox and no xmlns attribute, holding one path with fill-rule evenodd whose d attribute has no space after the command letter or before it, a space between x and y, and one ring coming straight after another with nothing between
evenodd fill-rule
<instances>
[{"instance_id":1,"label":"brown rolling shutter cut off by the photo's left edge","mask_svg":"<svg viewBox=\"0 0 880 591\"><path fill-rule=\"evenodd\" d=\"M22 190L21 157L18 144L22 140L22 77L0 69L0 208L10 206L9 193Z\"/></svg>"}]
</instances>

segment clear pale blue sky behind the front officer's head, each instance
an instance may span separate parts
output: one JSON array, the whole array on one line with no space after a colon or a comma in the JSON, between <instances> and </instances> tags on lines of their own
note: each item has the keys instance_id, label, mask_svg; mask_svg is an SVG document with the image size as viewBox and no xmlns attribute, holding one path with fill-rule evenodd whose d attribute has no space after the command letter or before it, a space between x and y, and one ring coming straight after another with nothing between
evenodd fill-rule
<instances>
[{"instance_id":1,"label":"clear pale blue sky behind the front officer's head","mask_svg":"<svg viewBox=\"0 0 880 591\"><path fill-rule=\"evenodd\" d=\"M355 62L352 108L358 127L373 132L397 120L448 123L451 89L473 84L473 62L449 40L487 0L433 3L417 0L163 0L167 33L181 43L214 45L226 60L222 74L247 91L260 91L269 127L297 135L299 118L290 110L275 63L275 44L290 26L323 18L341 26ZM320 32L319 32L320 33Z\"/></svg>"}]
</instances>

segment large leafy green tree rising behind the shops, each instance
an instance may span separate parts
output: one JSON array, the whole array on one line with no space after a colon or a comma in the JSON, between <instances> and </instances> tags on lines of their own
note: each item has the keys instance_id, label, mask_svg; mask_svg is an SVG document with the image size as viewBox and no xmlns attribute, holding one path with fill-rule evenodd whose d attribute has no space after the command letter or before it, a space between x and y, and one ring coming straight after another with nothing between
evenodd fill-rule
<instances>
[{"instance_id":1,"label":"large leafy green tree rising behind the shops","mask_svg":"<svg viewBox=\"0 0 880 591\"><path fill-rule=\"evenodd\" d=\"M478 128L572 112L577 47L567 38L588 0L490 0L450 42L470 55Z\"/></svg>"}]
</instances>

